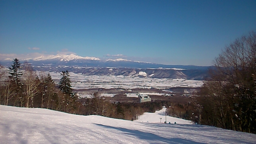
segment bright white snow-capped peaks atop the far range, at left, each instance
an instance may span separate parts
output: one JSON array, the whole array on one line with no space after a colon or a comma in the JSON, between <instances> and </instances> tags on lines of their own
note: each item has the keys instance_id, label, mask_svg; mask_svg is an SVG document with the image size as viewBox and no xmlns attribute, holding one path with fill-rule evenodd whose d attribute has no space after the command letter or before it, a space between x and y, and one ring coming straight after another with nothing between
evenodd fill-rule
<instances>
[{"instance_id":1,"label":"bright white snow-capped peaks atop the far range, at left","mask_svg":"<svg viewBox=\"0 0 256 144\"><path fill-rule=\"evenodd\" d=\"M77 56L74 54L70 54L70 55L51 55L51 56L39 56L37 58L34 58L34 61L39 61L39 60L60 60L60 61L65 61L65 62L69 62L70 60L100 60L99 58L95 58L95 57L82 57L82 56Z\"/></svg>"}]
</instances>

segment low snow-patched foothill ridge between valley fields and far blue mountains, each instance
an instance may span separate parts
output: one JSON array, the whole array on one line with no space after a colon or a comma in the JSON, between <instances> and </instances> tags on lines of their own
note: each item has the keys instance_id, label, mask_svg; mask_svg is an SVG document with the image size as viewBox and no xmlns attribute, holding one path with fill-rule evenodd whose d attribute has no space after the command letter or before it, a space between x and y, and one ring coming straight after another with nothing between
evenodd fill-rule
<instances>
[{"instance_id":1,"label":"low snow-patched foothill ridge between valley fields and far blue mountains","mask_svg":"<svg viewBox=\"0 0 256 144\"><path fill-rule=\"evenodd\" d=\"M173 78L188 80L206 80L208 70L185 70L176 68L93 68L80 66L33 66L34 70L61 72L68 70L76 74L85 74L88 76L132 76L141 78Z\"/></svg>"}]
</instances>

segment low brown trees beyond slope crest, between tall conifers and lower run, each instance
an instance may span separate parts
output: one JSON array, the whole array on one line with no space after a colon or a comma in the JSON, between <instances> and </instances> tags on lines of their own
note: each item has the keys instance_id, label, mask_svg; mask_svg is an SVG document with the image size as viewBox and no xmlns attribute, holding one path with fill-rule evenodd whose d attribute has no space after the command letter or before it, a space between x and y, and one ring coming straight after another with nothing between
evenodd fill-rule
<instances>
[{"instance_id":1,"label":"low brown trees beyond slope crest, between tall conifers and lower run","mask_svg":"<svg viewBox=\"0 0 256 144\"><path fill-rule=\"evenodd\" d=\"M169 101L153 101L144 103L134 102L110 102L100 94L94 93L93 98L80 99L83 106L80 107L79 114L82 115L100 115L110 118L119 118L125 120L136 120L144 112L155 112L162 109L162 106L168 106Z\"/></svg>"}]
</instances>

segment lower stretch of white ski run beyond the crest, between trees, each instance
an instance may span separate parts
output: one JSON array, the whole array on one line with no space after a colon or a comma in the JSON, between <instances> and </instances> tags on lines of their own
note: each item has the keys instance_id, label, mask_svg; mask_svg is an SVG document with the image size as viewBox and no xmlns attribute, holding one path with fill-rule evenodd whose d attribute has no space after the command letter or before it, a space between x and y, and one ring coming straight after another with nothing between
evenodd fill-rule
<instances>
[{"instance_id":1,"label":"lower stretch of white ski run beyond the crest, between trees","mask_svg":"<svg viewBox=\"0 0 256 144\"><path fill-rule=\"evenodd\" d=\"M149 123L160 123L160 118L162 118L161 122L164 123L165 121L165 110L166 108L163 108L162 110L158 110L155 113L145 112L141 116L139 116L138 120L135 120L136 122L149 122ZM194 124L190 120L183 120L181 118L174 118L172 116L166 116L167 123L174 124L176 122L177 124Z\"/></svg>"}]
</instances>

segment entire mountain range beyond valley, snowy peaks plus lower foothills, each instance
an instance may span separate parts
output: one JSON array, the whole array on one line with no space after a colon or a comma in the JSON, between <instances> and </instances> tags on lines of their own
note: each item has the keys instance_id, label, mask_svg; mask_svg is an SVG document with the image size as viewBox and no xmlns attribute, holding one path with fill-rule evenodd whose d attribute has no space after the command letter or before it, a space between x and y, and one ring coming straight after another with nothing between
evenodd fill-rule
<instances>
[{"instance_id":1,"label":"entire mountain range beyond valley, snowy peaks plus lower foothills","mask_svg":"<svg viewBox=\"0 0 256 144\"><path fill-rule=\"evenodd\" d=\"M95 57L82 57L74 54L39 56L20 60L31 64L34 70L69 72L86 75L123 75L151 78L183 78L189 80L205 80L210 66L164 65L150 62L139 62L122 58L101 60ZM2 59L5 66L12 64L12 59Z\"/></svg>"}]
</instances>

